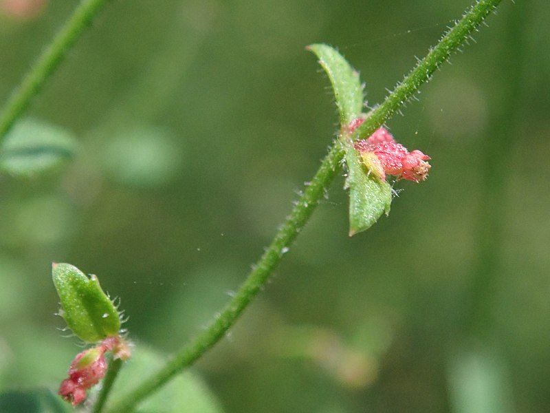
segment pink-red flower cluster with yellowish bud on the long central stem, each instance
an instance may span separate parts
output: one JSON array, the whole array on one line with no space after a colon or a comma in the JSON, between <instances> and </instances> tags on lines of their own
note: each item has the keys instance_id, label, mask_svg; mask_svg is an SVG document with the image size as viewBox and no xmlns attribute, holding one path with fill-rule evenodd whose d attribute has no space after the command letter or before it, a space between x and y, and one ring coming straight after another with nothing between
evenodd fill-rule
<instances>
[{"instance_id":1,"label":"pink-red flower cluster with yellowish bud on the long central stem","mask_svg":"<svg viewBox=\"0 0 550 413\"><path fill-rule=\"evenodd\" d=\"M350 132L362 122L362 118L353 120L349 125ZM419 150L409 152L406 147L395 142L384 127L377 129L369 139L355 142L355 149L360 153L363 165L380 180L386 180L386 175L413 182L428 178L431 165L426 161L430 157Z\"/></svg>"}]
</instances>

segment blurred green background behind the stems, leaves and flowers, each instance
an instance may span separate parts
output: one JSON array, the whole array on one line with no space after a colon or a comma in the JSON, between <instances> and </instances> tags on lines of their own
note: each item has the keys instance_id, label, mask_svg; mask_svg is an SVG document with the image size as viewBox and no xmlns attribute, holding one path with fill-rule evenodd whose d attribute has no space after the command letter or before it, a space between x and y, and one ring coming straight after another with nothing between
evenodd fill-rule
<instances>
[{"instance_id":1,"label":"blurred green background behind the stems, leaves and flowers","mask_svg":"<svg viewBox=\"0 0 550 413\"><path fill-rule=\"evenodd\" d=\"M0 9L1 100L77 3ZM52 261L97 274L131 339L170 354L194 337L335 136L305 45L337 46L373 106L470 3L109 3L28 111L72 132L76 158L0 176L1 388L56 388L80 351L56 330ZM347 237L336 180L193 368L223 411L548 411L549 19L546 0L503 1L388 123L432 156L389 218Z\"/></svg>"}]
</instances>

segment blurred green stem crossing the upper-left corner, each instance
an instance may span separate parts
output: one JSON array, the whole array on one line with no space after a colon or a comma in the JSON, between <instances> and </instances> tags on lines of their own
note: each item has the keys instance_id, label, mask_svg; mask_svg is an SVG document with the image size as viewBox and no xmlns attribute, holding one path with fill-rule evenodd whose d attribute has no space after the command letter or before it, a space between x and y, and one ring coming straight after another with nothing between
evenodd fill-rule
<instances>
[{"instance_id":1,"label":"blurred green stem crossing the upper-left corner","mask_svg":"<svg viewBox=\"0 0 550 413\"><path fill-rule=\"evenodd\" d=\"M8 102L5 103L0 114L0 142L28 107L33 96L40 92L47 78L63 61L67 50L74 44L84 29L90 25L91 20L94 19L94 16L106 2L107 0L83 0L55 36L52 43L47 46L39 59L32 65L19 87L14 90Z\"/></svg>"}]
</instances>

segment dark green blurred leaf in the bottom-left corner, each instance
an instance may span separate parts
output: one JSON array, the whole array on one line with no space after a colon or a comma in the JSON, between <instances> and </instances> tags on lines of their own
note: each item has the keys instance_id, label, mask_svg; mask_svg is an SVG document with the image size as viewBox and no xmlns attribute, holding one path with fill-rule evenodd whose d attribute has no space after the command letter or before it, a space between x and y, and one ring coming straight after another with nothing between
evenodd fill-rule
<instances>
[{"instance_id":1,"label":"dark green blurred leaf in the bottom-left corner","mask_svg":"<svg viewBox=\"0 0 550 413\"><path fill-rule=\"evenodd\" d=\"M0 394L1 413L68 413L72 408L47 389Z\"/></svg>"}]
</instances>

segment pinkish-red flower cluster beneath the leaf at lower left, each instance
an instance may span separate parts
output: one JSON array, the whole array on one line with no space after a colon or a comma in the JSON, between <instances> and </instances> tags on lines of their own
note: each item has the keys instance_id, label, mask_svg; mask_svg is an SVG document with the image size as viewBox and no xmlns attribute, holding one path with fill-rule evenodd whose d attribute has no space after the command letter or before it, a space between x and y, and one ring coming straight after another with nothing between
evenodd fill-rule
<instances>
[{"instance_id":1,"label":"pinkish-red flower cluster beneath the leaf at lower left","mask_svg":"<svg viewBox=\"0 0 550 413\"><path fill-rule=\"evenodd\" d=\"M69 368L69 378L61 382L59 394L76 406L86 399L86 391L96 385L107 372L105 353L113 352L115 359L130 357L128 344L119 336L107 337L99 346L76 354Z\"/></svg>"}]
</instances>

